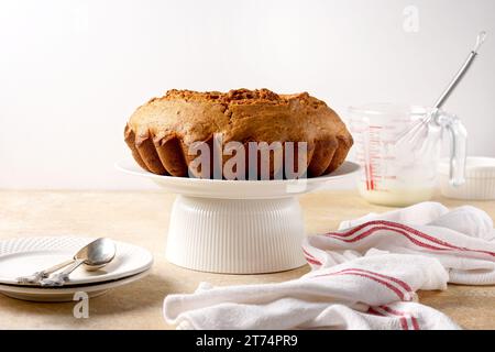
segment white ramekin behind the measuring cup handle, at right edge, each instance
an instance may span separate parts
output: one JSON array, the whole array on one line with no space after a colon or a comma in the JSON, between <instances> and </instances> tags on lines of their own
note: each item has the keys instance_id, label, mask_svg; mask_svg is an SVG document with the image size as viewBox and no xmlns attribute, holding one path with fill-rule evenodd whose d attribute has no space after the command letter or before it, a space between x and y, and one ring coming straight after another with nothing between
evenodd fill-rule
<instances>
[{"instance_id":1,"label":"white ramekin behind the measuring cup handle, at right edge","mask_svg":"<svg viewBox=\"0 0 495 352\"><path fill-rule=\"evenodd\" d=\"M495 158L469 156L465 166L465 184L454 187L449 183L449 161L439 167L440 191L448 198L493 200L495 199Z\"/></svg>"}]
</instances>

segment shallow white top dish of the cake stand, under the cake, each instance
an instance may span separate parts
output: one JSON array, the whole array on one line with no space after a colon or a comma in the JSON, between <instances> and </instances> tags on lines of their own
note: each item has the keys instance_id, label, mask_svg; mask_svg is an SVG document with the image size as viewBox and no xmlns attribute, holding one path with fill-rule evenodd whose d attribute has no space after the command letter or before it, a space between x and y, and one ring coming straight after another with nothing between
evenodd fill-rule
<instances>
[{"instance_id":1,"label":"shallow white top dish of the cake stand, under the cake","mask_svg":"<svg viewBox=\"0 0 495 352\"><path fill-rule=\"evenodd\" d=\"M312 191L328 183L348 177L359 170L360 166L344 162L336 172L299 180L227 180L175 176L161 176L142 169L134 161L125 160L116 167L127 174L146 177L161 187L184 196L223 199L271 199L294 197Z\"/></svg>"}]
</instances>

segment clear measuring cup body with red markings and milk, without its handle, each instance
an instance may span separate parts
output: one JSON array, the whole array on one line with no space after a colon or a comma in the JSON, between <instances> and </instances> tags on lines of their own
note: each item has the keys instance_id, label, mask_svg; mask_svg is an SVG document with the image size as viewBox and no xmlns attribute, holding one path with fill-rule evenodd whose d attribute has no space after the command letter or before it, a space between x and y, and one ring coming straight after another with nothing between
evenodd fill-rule
<instances>
[{"instance_id":1,"label":"clear measuring cup body with red markings and milk, without its handle","mask_svg":"<svg viewBox=\"0 0 495 352\"><path fill-rule=\"evenodd\" d=\"M393 105L351 108L350 130L361 165L358 188L370 202L408 206L431 199L440 156L440 129L420 131L418 143L397 140L426 109ZM438 134L438 135L435 135Z\"/></svg>"}]
</instances>

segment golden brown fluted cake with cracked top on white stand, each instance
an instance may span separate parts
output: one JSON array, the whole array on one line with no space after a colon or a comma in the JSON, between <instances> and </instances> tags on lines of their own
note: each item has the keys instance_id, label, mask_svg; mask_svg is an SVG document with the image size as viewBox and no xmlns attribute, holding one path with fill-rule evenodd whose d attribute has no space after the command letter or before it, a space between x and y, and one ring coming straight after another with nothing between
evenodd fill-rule
<instances>
[{"instance_id":1,"label":"golden brown fluted cake with cracked top on white stand","mask_svg":"<svg viewBox=\"0 0 495 352\"><path fill-rule=\"evenodd\" d=\"M223 143L307 142L309 176L337 169L352 146L338 114L307 92L277 95L268 89L229 92L169 90L131 116L125 142L136 162L155 174L187 176L194 142L221 133Z\"/></svg>"}]
</instances>

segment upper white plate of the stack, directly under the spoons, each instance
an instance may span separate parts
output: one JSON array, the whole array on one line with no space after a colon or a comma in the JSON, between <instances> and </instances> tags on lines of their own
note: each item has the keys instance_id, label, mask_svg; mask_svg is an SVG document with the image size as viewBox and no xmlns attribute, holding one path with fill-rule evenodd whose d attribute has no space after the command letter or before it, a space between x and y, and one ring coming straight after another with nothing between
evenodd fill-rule
<instances>
[{"instance_id":1,"label":"upper white plate of the stack, directly under the spoons","mask_svg":"<svg viewBox=\"0 0 495 352\"><path fill-rule=\"evenodd\" d=\"M0 241L0 285L18 285L16 277L31 275L62 263L94 240L96 239L33 237ZM84 267L79 267L70 274L67 285L116 280L142 273L152 266L153 255L148 251L129 243L114 242L117 254L111 263L96 272L87 272Z\"/></svg>"}]
</instances>

